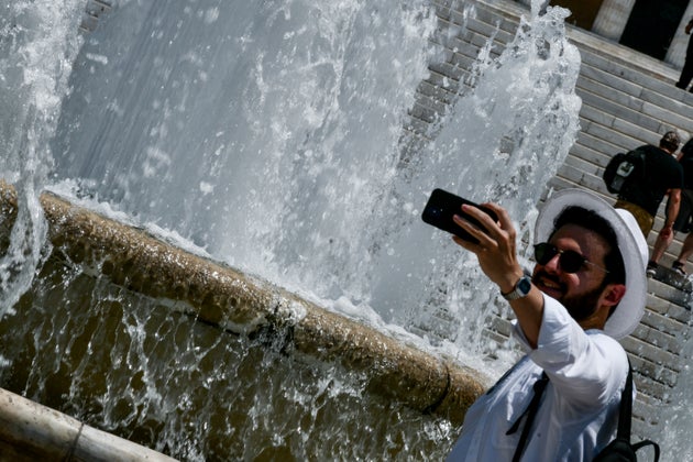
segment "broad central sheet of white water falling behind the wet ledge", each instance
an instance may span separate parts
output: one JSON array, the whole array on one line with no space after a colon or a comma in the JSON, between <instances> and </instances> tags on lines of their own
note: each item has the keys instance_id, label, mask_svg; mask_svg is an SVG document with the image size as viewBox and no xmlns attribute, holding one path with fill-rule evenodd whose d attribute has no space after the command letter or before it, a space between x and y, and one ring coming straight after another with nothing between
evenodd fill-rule
<instances>
[{"instance_id":1,"label":"broad central sheet of white water falling behind the wet ledge","mask_svg":"<svg viewBox=\"0 0 693 462\"><path fill-rule=\"evenodd\" d=\"M57 169L232 265L351 295L433 19L419 1L237 3L128 3L117 37L97 30Z\"/></svg>"}]
</instances>

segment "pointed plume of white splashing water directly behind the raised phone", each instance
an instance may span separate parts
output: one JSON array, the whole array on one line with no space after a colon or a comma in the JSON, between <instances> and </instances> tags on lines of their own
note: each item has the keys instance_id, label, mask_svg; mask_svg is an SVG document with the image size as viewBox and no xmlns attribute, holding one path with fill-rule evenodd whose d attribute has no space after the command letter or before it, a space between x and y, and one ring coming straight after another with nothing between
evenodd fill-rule
<instances>
[{"instance_id":1,"label":"pointed plume of white splashing water directly behind the raised phone","mask_svg":"<svg viewBox=\"0 0 693 462\"><path fill-rule=\"evenodd\" d=\"M474 90L461 95L436 141L409 162L394 188L393 200L403 211L413 211L397 223L410 235L395 229L384 232L394 238L384 244L394 256L377 272L386 277L382 286L388 290L376 305L402 306L414 299L411 309L424 317L413 322L424 324L444 307L458 321L447 328L447 337L457 338L465 350L482 345L481 328L493 309L495 290L469 254L418 222L420 205L435 187L477 202L496 201L522 220L519 235L530 235L537 199L563 163L579 127L574 86L580 56L565 42L564 11L535 16L531 25L522 22L498 59L479 63L471 77L477 80ZM404 272L399 268L406 268L407 277L393 279ZM416 282L424 282L426 289ZM421 294L431 298L421 299ZM488 309L480 316L470 306Z\"/></svg>"}]
</instances>

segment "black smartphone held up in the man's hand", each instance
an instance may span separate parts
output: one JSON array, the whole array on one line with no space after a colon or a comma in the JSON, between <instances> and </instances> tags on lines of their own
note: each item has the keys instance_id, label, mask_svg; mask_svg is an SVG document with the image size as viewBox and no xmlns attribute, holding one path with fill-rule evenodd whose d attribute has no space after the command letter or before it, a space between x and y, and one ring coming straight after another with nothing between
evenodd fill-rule
<instances>
[{"instance_id":1,"label":"black smartphone held up in the man's hand","mask_svg":"<svg viewBox=\"0 0 693 462\"><path fill-rule=\"evenodd\" d=\"M463 199L442 189L433 189L433 193L431 193L431 196L428 198L428 202L424 208L421 219L428 224L432 224L433 227L452 233L465 241L477 243L479 240L476 238L464 231L454 221L452 221L452 217L454 215L459 215L482 230L484 229L479 220L462 211L463 204L477 207L493 218L494 221L498 221L498 217L490 208L479 206L471 200Z\"/></svg>"}]
</instances>

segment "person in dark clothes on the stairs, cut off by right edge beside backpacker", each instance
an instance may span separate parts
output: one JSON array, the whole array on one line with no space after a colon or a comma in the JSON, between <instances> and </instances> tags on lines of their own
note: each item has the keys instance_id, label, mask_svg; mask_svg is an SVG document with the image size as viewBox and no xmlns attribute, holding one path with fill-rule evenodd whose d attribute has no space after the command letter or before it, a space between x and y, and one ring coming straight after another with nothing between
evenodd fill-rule
<instances>
[{"instance_id":1,"label":"person in dark clothes on the stairs, cut off by right edge beside backpacker","mask_svg":"<svg viewBox=\"0 0 693 462\"><path fill-rule=\"evenodd\" d=\"M652 256L647 264L648 276L654 276L657 273L657 266L659 260L662 257L669 245L674 239L676 232L688 233L683 241L683 246L679 253L679 257L672 263L671 268L682 276L686 275L685 264L689 257L693 254L693 138L690 139L681 148L681 155L679 156L679 164L683 168L683 191L681 194L681 206L679 208L679 215L673 223L673 232L666 232L667 229L662 229L654 246L652 248ZM671 198L669 199L671 200ZM670 205L667 205L669 210ZM669 221L669 218L667 218Z\"/></svg>"}]
</instances>

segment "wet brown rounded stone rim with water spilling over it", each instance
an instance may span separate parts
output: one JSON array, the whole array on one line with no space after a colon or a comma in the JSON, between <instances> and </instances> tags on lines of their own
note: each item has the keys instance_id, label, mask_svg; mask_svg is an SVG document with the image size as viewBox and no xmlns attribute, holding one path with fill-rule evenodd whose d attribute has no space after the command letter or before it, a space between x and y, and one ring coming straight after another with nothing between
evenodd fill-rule
<instances>
[{"instance_id":1,"label":"wet brown rounded stone rim with water spilling over it","mask_svg":"<svg viewBox=\"0 0 693 462\"><path fill-rule=\"evenodd\" d=\"M41 196L54 253L222 329L280 336L288 351L338 362L367 377L371 392L462 421L484 393L483 375L330 312L267 282L162 242L53 194ZM0 183L0 219L16 213Z\"/></svg>"}]
</instances>

